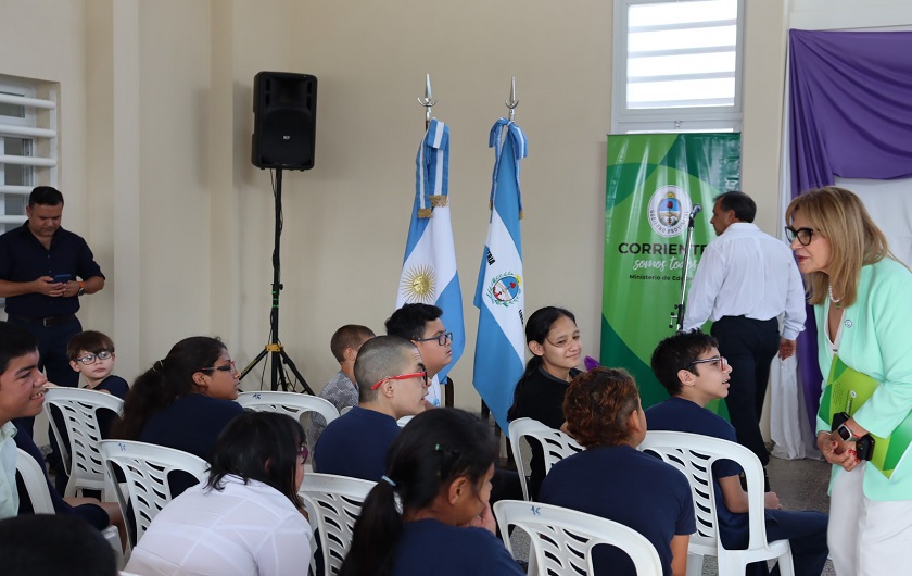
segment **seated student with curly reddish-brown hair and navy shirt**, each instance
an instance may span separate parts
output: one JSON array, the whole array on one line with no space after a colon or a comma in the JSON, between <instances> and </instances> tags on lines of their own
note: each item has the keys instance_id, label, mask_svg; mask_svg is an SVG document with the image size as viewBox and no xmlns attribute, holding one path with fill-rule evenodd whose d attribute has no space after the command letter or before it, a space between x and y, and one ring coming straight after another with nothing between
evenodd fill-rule
<instances>
[{"instance_id":1,"label":"seated student with curly reddish-brown hair and navy shirt","mask_svg":"<svg viewBox=\"0 0 912 576\"><path fill-rule=\"evenodd\" d=\"M636 450L646 416L633 377L606 367L580 374L567 389L563 414L568 433L586 450L554 465L540 500L633 528L656 548L664 576L684 576L696 531L691 485L670 464ZM636 574L618 548L596 547L593 563L598 576Z\"/></svg>"}]
</instances>

